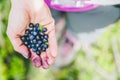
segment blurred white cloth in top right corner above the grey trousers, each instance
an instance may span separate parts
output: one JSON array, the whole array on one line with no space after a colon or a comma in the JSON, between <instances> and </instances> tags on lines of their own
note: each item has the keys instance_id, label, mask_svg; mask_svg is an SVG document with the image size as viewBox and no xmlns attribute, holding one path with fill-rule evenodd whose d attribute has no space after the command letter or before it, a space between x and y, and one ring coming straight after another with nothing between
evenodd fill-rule
<instances>
[{"instance_id":1,"label":"blurred white cloth in top right corner above the grey trousers","mask_svg":"<svg viewBox=\"0 0 120 80\"><path fill-rule=\"evenodd\" d=\"M120 4L120 0L87 0L86 3L98 5L118 5Z\"/></svg>"}]
</instances>

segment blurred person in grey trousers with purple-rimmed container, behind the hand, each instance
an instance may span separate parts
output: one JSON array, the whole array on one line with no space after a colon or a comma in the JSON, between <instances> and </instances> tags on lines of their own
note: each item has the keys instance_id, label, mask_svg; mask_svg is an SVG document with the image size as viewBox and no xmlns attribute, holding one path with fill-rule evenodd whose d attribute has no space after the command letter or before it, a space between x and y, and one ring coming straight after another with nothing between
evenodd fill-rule
<instances>
[{"instance_id":1,"label":"blurred person in grey trousers with purple-rimmed container, behind the hand","mask_svg":"<svg viewBox=\"0 0 120 80\"><path fill-rule=\"evenodd\" d=\"M56 28L66 27L64 35L61 30L57 30L57 35L61 34L62 39L55 68L70 64L82 44L90 45L95 42L110 24L120 18L119 0L45 1L51 7Z\"/></svg>"}]
</instances>

